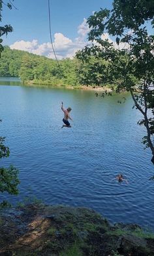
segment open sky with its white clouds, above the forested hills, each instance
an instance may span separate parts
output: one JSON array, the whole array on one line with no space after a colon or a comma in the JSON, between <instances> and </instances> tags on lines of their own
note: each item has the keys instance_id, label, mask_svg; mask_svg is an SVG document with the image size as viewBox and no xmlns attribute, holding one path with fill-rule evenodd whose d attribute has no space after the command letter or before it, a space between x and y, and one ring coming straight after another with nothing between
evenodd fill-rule
<instances>
[{"instance_id":1,"label":"open sky with its white clouds, above the forested hills","mask_svg":"<svg viewBox=\"0 0 154 256\"><path fill-rule=\"evenodd\" d=\"M6 0L7 2L7 0ZM87 43L86 18L93 11L112 9L113 0L50 0L52 39L57 58L72 58ZM50 43L48 0L14 0L4 7L2 25L11 24L14 32L3 37L11 49L54 58ZM108 35L105 35L108 38Z\"/></svg>"}]
</instances>

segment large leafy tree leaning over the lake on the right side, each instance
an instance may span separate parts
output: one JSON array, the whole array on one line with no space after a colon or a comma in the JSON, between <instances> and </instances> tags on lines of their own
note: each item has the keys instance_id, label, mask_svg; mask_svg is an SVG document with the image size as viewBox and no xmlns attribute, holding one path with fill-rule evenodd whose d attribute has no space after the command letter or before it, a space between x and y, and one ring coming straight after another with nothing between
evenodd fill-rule
<instances>
[{"instance_id":1,"label":"large leafy tree leaning over the lake on the right side","mask_svg":"<svg viewBox=\"0 0 154 256\"><path fill-rule=\"evenodd\" d=\"M118 92L131 93L134 106L143 116L138 123L147 131L142 142L151 149L154 163L154 36L147 32L147 22L151 28L154 25L153 16L153 0L114 0L112 11L100 9L88 18L91 45L79 51L77 57L83 62L91 56L106 60L106 83L116 84ZM104 33L115 37L116 47L102 39ZM101 64L97 72L102 74Z\"/></svg>"}]
</instances>

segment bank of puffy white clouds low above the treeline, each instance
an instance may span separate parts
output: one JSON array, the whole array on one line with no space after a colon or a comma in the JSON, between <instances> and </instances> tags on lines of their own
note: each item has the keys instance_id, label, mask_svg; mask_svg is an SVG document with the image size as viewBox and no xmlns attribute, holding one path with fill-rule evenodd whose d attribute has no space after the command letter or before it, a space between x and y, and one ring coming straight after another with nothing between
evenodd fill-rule
<instances>
[{"instance_id":1,"label":"bank of puffy white clouds low above the treeline","mask_svg":"<svg viewBox=\"0 0 154 256\"><path fill-rule=\"evenodd\" d=\"M53 45L57 59L61 60L62 58L73 58L73 56L76 54L76 51L83 49L85 45L87 45L88 42L85 37L90 30L86 22L87 20L84 18L82 24L78 26L79 36L74 40L70 39L69 37L65 37L63 33L54 34ZM115 48L122 49L125 47L125 43L120 43L118 46L114 41L112 41L108 33L102 34L101 38L108 39L110 43L114 44ZM32 41L16 41L10 45L10 49L18 49L33 54L44 55L48 58L55 58L54 51L52 49L52 43L47 42L39 44L37 39L33 39Z\"/></svg>"}]
</instances>

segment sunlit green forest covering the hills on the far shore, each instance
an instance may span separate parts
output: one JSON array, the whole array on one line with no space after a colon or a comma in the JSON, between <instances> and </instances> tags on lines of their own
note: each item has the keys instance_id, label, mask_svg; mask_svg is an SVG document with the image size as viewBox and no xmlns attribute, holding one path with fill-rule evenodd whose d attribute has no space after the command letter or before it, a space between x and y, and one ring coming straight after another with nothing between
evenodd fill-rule
<instances>
[{"instance_id":1,"label":"sunlit green forest covering the hills on the far shore","mask_svg":"<svg viewBox=\"0 0 154 256\"><path fill-rule=\"evenodd\" d=\"M52 60L45 56L27 53L25 51L11 50L5 46L1 53L1 77L20 77L23 83L36 83L44 85L75 86L104 85L103 72L97 71L98 62L91 57L90 62L83 63L78 58L65 58ZM107 62L106 62L107 64ZM106 84L105 84L106 85ZM110 85L108 85L110 87Z\"/></svg>"}]
</instances>

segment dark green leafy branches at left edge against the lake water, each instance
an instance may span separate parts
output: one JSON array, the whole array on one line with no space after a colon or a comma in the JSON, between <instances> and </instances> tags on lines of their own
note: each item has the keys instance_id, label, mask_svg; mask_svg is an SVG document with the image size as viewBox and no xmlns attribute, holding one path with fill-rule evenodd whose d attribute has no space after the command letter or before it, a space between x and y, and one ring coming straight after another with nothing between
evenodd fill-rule
<instances>
[{"instance_id":1,"label":"dark green leafy branches at left edge against the lake water","mask_svg":"<svg viewBox=\"0 0 154 256\"><path fill-rule=\"evenodd\" d=\"M1 120L0 120L1 122ZM4 144L5 137L0 137L0 159L8 158L10 150ZM8 192L8 194L17 195L18 194L18 184L20 183L18 179L18 169L13 165L10 167L0 167L0 192ZM8 202L0 202L0 207L8 205Z\"/></svg>"}]
</instances>

